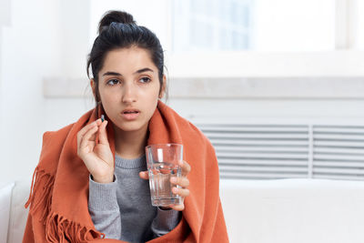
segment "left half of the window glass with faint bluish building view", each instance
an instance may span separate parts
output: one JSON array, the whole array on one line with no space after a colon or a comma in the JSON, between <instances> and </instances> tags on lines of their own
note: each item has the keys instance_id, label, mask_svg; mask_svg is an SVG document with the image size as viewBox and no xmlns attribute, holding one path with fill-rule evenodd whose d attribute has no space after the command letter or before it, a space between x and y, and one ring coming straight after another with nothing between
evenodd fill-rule
<instances>
[{"instance_id":1,"label":"left half of the window glass with faint bluish building view","mask_svg":"<svg viewBox=\"0 0 364 243\"><path fill-rule=\"evenodd\" d=\"M173 50L251 47L252 0L173 1Z\"/></svg>"}]
</instances>

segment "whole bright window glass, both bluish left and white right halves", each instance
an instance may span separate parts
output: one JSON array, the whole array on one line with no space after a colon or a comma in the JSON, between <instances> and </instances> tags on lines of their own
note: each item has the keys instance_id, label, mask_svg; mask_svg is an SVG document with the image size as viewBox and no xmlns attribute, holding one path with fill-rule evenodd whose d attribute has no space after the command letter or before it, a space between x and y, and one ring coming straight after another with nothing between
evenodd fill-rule
<instances>
[{"instance_id":1,"label":"whole bright window glass, both bluish left and white right halves","mask_svg":"<svg viewBox=\"0 0 364 243\"><path fill-rule=\"evenodd\" d=\"M335 48L335 0L173 0L173 50Z\"/></svg>"}]
</instances>

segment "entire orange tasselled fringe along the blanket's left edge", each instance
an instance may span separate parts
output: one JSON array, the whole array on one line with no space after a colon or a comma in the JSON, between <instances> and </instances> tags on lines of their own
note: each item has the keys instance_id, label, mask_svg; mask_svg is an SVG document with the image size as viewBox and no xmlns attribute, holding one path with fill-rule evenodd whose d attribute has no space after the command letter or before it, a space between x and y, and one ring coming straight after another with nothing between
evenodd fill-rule
<instances>
[{"instance_id":1,"label":"entire orange tasselled fringe along the blanket's left edge","mask_svg":"<svg viewBox=\"0 0 364 243\"><path fill-rule=\"evenodd\" d=\"M33 216L36 214L36 218L45 225L47 242L87 242L96 238L105 238L105 234L93 228L86 228L63 216L51 213L54 183L54 176L36 167L29 198L25 203L25 208L30 206L29 214Z\"/></svg>"}]
</instances>

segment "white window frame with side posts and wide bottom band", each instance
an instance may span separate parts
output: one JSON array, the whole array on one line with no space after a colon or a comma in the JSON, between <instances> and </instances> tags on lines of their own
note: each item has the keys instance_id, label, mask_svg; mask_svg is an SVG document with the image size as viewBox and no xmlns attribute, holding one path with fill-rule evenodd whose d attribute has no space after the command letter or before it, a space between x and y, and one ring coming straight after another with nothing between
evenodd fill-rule
<instances>
[{"instance_id":1,"label":"white window frame with side posts and wide bottom band","mask_svg":"<svg viewBox=\"0 0 364 243\"><path fill-rule=\"evenodd\" d=\"M364 51L353 46L357 1L336 0L336 49L333 51L210 51L198 54L167 51L168 75L171 78L364 76ZM168 5L172 10L172 4ZM169 11L167 50L172 50L172 17L172 11Z\"/></svg>"}]
</instances>

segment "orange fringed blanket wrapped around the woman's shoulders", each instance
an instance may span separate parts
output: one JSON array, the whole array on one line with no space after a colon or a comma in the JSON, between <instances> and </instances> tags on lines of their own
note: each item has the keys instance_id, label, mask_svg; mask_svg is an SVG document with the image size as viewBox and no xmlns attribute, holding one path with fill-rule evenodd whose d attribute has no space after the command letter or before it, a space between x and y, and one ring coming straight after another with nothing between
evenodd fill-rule
<instances>
[{"instance_id":1,"label":"orange fringed blanket wrapped around the woman's shoulders","mask_svg":"<svg viewBox=\"0 0 364 243\"><path fill-rule=\"evenodd\" d=\"M101 113L98 108L98 114ZM58 131L45 132L39 163L35 168L23 242L121 242L103 239L88 213L89 172L77 157L77 132L95 121L96 109L76 123ZM190 195L185 199L182 219L165 236L149 242L228 242L227 228L218 194L215 150L207 138L186 119L158 101L149 122L147 144L180 143L188 174ZM114 130L107 137L115 157ZM137 218L136 218L137 220Z\"/></svg>"}]
</instances>

